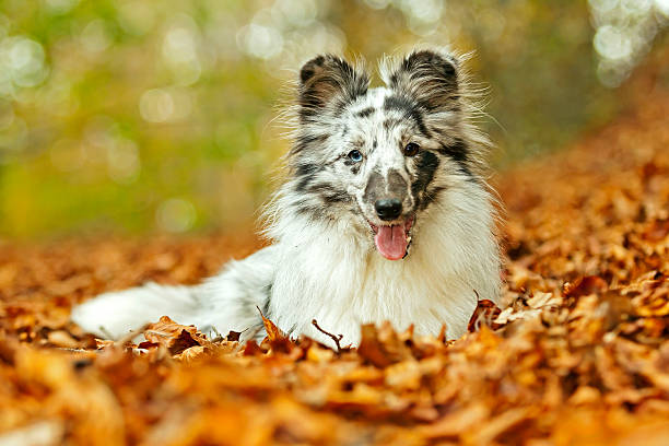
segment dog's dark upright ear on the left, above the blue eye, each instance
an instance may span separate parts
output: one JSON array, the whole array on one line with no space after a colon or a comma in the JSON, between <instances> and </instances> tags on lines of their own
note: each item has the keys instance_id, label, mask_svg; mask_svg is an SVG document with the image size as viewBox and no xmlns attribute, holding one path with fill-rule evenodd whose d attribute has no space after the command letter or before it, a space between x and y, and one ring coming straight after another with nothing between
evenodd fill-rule
<instances>
[{"instance_id":1,"label":"dog's dark upright ear on the left, above the blue eye","mask_svg":"<svg viewBox=\"0 0 669 446\"><path fill-rule=\"evenodd\" d=\"M367 92L369 77L345 60L318 56L300 70L300 116L303 120L324 109L337 109Z\"/></svg>"}]
</instances>

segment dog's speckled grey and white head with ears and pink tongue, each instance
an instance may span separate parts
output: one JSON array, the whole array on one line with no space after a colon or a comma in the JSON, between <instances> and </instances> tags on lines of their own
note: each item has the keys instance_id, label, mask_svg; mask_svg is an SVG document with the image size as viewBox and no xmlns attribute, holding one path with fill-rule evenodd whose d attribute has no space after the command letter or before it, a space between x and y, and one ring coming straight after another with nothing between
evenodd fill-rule
<instances>
[{"instance_id":1,"label":"dog's speckled grey and white head with ears and pink tongue","mask_svg":"<svg viewBox=\"0 0 669 446\"><path fill-rule=\"evenodd\" d=\"M383 70L385 87L333 56L301 70L290 183L295 211L350 220L389 260L407 256L421 214L476 180L462 134L457 61L416 51Z\"/></svg>"}]
</instances>

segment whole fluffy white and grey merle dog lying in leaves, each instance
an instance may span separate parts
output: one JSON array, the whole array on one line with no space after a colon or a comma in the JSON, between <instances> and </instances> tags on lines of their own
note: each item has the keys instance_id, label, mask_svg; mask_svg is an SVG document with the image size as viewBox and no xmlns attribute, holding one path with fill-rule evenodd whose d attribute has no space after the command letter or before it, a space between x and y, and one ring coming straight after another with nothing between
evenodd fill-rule
<instances>
[{"instance_id":1,"label":"whole fluffy white and grey merle dog lying in leaves","mask_svg":"<svg viewBox=\"0 0 669 446\"><path fill-rule=\"evenodd\" d=\"M245 340L265 336L260 308L289 334L326 343L313 319L342 344L384 320L461 336L477 294L497 302L500 292L477 107L461 61L445 50L385 60L380 73L385 86L368 89L368 75L339 57L302 68L289 179L268 206L273 245L201 285L107 293L72 319L121 337L168 315ZM390 198L401 214L382 220L375 203Z\"/></svg>"}]
</instances>

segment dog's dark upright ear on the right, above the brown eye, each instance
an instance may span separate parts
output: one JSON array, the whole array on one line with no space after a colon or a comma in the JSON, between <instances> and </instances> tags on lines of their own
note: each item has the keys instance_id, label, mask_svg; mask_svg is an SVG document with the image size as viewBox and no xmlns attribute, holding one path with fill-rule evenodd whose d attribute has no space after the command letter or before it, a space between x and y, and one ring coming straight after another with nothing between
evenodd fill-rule
<instances>
[{"instance_id":1,"label":"dog's dark upright ear on the right, above the brown eye","mask_svg":"<svg viewBox=\"0 0 669 446\"><path fill-rule=\"evenodd\" d=\"M427 111L450 109L459 97L457 59L445 52L418 50L389 73L386 84L413 97Z\"/></svg>"}]
</instances>

